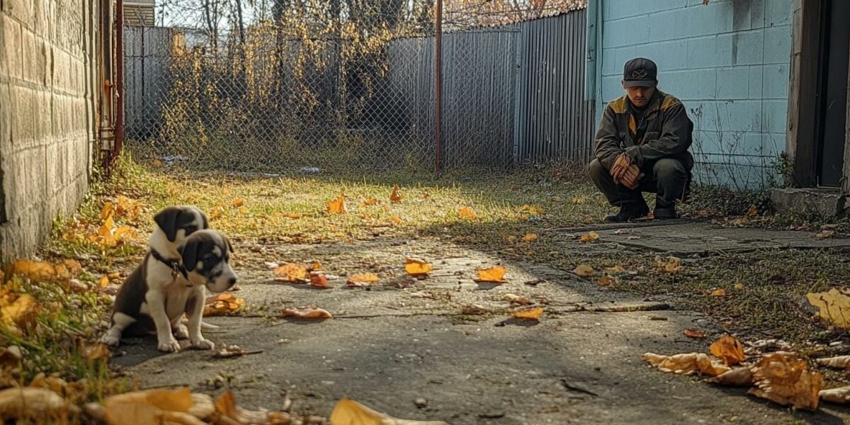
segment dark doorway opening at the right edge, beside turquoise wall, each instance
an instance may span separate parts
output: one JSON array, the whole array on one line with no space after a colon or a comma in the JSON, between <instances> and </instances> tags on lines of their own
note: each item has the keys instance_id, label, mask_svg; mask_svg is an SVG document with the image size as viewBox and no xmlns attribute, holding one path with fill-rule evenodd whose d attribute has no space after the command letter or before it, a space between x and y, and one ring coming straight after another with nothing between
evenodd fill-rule
<instances>
[{"instance_id":1,"label":"dark doorway opening at the right edge, beside turquoise wall","mask_svg":"<svg viewBox=\"0 0 850 425\"><path fill-rule=\"evenodd\" d=\"M850 2L824 0L821 8L817 108L818 184L842 185L847 137L847 63L850 58Z\"/></svg>"}]
</instances>

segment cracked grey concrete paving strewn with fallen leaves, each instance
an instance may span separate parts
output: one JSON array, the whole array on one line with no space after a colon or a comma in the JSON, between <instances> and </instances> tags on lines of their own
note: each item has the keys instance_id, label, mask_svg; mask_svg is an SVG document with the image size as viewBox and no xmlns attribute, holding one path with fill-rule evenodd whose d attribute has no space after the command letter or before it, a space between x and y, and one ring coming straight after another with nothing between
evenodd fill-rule
<instances>
[{"instance_id":1,"label":"cracked grey concrete paving strewn with fallen leaves","mask_svg":"<svg viewBox=\"0 0 850 425\"><path fill-rule=\"evenodd\" d=\"M600 233L606 241L652 250L676 246L683 252L844 243L694 223L615 230ZM226 360L192 349L161 355L153 338L136 338L124 342L125 354L113 363L138 374L144 387L185 384L211 394L229 387L241 405L269 409L280 407L288 394L295 411L320 415L349 397L393 416L452 425L850 420L847 409L827 405L815 413L791 412L747 396L745 389L717 388L649 368L641 359L648 351L706 352L706 340L682 332L695 326L711 330L711 321L676 310L675 304L668 309L651 299L608 292L539 264L505 262L488 252L424 239L312 246L241 241L236 251L241 290L235 293L246 299L248 317L209 318L221 328L207 337L261 353ZM426 280L404 275L405 255L432 261L433 275ZM312 259L338 276L331 278L331 289L275 282L265 264ZM475 269L496 263L509 270L506 284L473 281ZM382 280L369 291L344 286L344 275L365 271ZM507 292L546 302L547 312L537 324L507 320L508 303L502 300ZM309 303L336 318L264 317L284 305ZM470 304L488 313L463 314ZM626 305L643 310L610 312ZM427 404L417 406L416 399Z\"/></svg>"}]
</instances>

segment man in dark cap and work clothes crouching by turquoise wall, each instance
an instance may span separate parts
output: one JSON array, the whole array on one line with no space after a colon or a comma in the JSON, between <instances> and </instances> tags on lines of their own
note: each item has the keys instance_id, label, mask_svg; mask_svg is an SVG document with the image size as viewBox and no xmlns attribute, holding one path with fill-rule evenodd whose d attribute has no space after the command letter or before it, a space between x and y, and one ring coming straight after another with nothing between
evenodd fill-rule
<instances>
[{"instance_id":1,"label":"man in dark cap and work clothes crouching by turquoise wall","mask_svg":"<svg viewBox=\"0 0 850 425\"><path fill-rule=\"evenodd\" d=\"M606 222L647 216L643 192L655 193L656 219L677 218L677 201L689 196L694 123L679 99L656 87L657 76L652 60L626 62L626 95L605 106L599 123L590 176L611 205L620 207Z\"/></svg>"}]
</instances>

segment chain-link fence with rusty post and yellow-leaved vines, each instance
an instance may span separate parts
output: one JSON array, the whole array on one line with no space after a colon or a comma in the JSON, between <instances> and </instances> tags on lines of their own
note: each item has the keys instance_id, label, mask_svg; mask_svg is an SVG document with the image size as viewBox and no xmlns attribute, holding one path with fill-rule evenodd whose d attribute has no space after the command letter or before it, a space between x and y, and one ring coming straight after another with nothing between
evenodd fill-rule
<instances>
[{"instance_id":1,"label":"chain-link fence with rusty post and yellow-leaved vines","mask_svg":"<svg viewBox=\"0 0 850 425\"><path fill-rule=\"evenodd\" d=\"M136 157L192 170L433 171L433 3L257 0L248 13L240 1L170 0L156 26L125 27L125 143ZM447 168L517 161L521 16L487 4L447 5Z\"/></svg>"}]
</instances>

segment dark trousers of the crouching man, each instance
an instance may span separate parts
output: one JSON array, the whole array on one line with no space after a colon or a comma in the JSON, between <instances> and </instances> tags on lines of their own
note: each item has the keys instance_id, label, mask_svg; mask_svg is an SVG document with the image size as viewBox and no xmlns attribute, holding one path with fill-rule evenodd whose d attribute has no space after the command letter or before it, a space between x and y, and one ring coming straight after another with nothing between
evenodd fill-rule
<instances>
[{"instance_id":1,"label":"dark trousers of the crouching man","mask_svg":"<svg viewBox=\"0 0 850 425\"><path fill-rule=\"evenodd\" d=\"M638 183L638 188L630 190L622 184L614 183L614 177L599 160L590 163L590 178L598 190L604 193L611 205L632 210L647 210L649 207L643 200L641 192L654 192L656 208L670 208L676 205L677 199L682 199L685 184L688 180L688 170L682 161L662 158L643 164L641 172L644 176Z\"/></svg>"}]
</instances>

